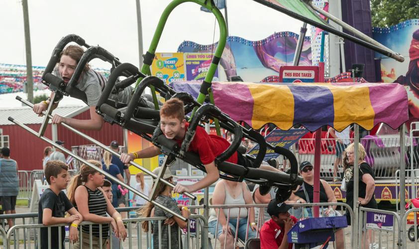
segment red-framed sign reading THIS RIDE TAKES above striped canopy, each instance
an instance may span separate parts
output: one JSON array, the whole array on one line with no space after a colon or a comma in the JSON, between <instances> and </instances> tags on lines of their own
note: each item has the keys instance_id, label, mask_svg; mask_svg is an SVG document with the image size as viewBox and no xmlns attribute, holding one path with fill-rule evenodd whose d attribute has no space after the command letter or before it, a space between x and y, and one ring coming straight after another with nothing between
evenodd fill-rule
<instances>
[{"instance_id":1,"label":"red-framed sign reading THIS RIDE TAKES above striped canopy","mask_svg":"<svg viewBox=\"0 0 419 249\"><path fill-rule=\"evenodd\" d=\"M318 72L319 68L316 66L282 66L279 69L279 82L318 82Z\"/></svg>"}]
</instances>

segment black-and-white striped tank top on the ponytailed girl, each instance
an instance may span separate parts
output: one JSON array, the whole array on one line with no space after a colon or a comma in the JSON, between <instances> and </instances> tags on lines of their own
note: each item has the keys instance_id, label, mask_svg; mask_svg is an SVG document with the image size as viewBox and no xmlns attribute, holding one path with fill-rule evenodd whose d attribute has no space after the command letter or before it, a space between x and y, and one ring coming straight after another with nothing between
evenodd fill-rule
<instances>
[{"instance_id":1,"label":"black-and-white striped tank top on the ponytailed girl","mask_svg":"<svg viewBox=\"0 0 419 249\"><path fill-rule=\"evenodd\" d=\"M83 185L84 186L84 185ZM86 187L86 186L85 186ZM88 207L89 213L104 216L106 217L106 199L104 194L98 188L93 191L90 188L86 187L88 193ZM77 209L77 205L74 206ZM92 235L95 237L99 236L99 224L98 225L91 225L92 226ZM85 225L82 226L83 233L90 233L90 226ZM106 239L109 234L109 224L102 224L102 238Z\"/></svg>"}]
</instances>

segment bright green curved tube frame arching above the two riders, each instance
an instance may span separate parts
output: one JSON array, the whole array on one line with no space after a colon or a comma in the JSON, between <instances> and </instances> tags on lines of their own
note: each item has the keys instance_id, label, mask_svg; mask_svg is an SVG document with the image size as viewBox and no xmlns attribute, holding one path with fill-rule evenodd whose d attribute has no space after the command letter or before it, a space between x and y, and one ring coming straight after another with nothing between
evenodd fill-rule
<instances>
[{"instance_id":1,"label":"bright green curved tube frame arching above the two riders","mask_svg":"<svg viewBox=\"0 0 419 249\"><path fill-rule=\"evenodd\" d=\"M215 50L214 56L221 58L222 51L224 50L225 43L227 41L227 26L225 24L224 17L222 16L219 9L212 3L212 0L173 0L171 3L169 3L169 5L167 5L165 10L163 11L163 14L160 17L159 23L157 24L156 31L154 32L154 36L153 36L153 39L151 40L151 44L148 49L148 52L151 54L154 54L156 52L157 44L159 43L167 18L169 17L170 13L175 7L177 7L178 5L184 2L198 3L201 6L208 8L215 15L215 18L217 19L219 30L220 30L220 35L219 35L220 38L219 38L219 42ZM150 66L151 65L147 65L144 63L143 66L141 67L141 72L145 75L151 75ZM209 82L209 83L212 82L212 78L215 74L217 66L218 66L218 62L216 64L211 62L210 69L208 70L207 76L205 77L206 82ZM139 78L137 80L135 87L138 86L138 84L140 83L142 79L143 78ZM151 86L150 89L153 95L154 107L156 108L156 110L158 110L159 105L157 103L157 96L156 96L155 89L153 86ZM205 101L205 97L206 95L200 92L197 99L198 103L203 104ZM193 113L195 113L195 110Z\"/></svg>"}]
</instances>

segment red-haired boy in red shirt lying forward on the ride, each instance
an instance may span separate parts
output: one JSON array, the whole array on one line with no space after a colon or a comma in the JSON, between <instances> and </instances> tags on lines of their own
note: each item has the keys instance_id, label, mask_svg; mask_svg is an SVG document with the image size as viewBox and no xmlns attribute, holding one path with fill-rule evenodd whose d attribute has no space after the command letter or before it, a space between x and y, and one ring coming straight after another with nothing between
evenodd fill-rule
<instances>
[{"instance_id":1,"label":"red-haired boy in red shirt lying forward on the ride","mask_svg":"<svg viewBox=\"0 0 419 249\"><path fill-rule=\"evenodd\" d=\"M173 139L181 145L188 127L189 123L185 120L183 102L177 98L166 101L160 109L160 128L166 138ZM177 193L192 193L216 182L219 178L219 172L215 166L214 160L215 157L225 151L228 146L230 146L230 143L226 139L217 135L208 134L203 127L197 126L194 138L189 145L189 151L199 154L201 162L204 164L205 170L207 171L207 175L200 181L189 186L177 184L173 190ZM161 154L160 148L151 146L133 153L122 153L120 159L123 163L129 163L136 158L149 158L159 154ZM247 159L241 154L234 152L233 155L225 161L243 166L251 165L251 163L246 163L246 160ZM269 165L261 165L260 168L279 171Z\"/></svg>"}]
</instances>

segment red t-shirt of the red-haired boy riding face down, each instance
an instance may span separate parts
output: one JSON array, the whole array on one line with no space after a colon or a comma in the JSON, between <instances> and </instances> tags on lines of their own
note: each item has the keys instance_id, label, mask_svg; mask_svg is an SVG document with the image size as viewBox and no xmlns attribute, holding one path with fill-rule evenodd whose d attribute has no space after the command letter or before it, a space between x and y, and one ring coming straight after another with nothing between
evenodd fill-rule
<instances>
[{"instance_id":1,"label":"red t-shirt of the red-haired boy riding face down","mask_svg":"<svg viewBox=\"0 0 419 249\"><path fill-rule=\"evenodd\" d=\"M189 127L187 122L185 130ZM175 139L179 144L182 144L182 140ZM197 126L195 136L189 145L189 151L198 153L203 164L209 164L215 160L215 157L224 152L230 143L221 136L208 134L207 131L201 126ZM230 158L225 160L227 162L237 164L237 152L234 152Z\"/></svg>"}]
</instances>

